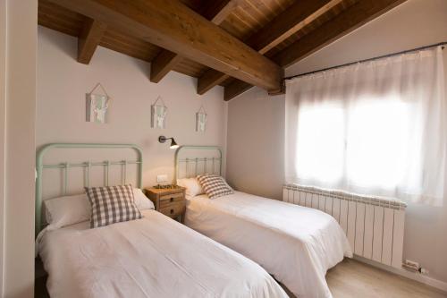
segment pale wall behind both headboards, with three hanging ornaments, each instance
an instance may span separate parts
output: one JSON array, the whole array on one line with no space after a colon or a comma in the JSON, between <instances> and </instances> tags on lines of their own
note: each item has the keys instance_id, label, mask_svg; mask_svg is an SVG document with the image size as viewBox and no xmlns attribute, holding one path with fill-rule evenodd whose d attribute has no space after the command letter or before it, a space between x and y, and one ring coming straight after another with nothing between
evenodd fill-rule
<instances>
[{"instance_id":1,"label":"pale wall behind both headboards, with three hanging ornaments","mask_svg":"<svg viewBox=\"0 0 447 298\"><path fill-rule=\"evenodd\" d=\"M159 83L148 80L150 64L98 47L89 65L76 62L77 38L38 28L37 147L49 142L136 143L143 149L143 184L156 184L156 175L173 178L173 154L163 134L180 145L225 145L226 103L223 89L204 96L196 93L196 79L170 72ZM97 82L112 103L109 123L85 121L85 94ZM150 108L161 96L168 106L167 128L150 127ZM200 105L207 110L207 131L195 132Z\"/></svg>"}]
</instances>

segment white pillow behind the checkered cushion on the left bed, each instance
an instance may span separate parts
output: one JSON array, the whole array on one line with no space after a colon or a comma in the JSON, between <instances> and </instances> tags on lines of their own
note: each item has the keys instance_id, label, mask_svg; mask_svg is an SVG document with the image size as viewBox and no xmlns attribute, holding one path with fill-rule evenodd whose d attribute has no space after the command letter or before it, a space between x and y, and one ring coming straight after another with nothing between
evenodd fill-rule
<instances>
[{"instance_id":1,"label":"white pillow behind the checkered cushion on the left bed","mask_svg":"<svg viewBox=\"0 0 447 298\"><path fill-rule=\"evenodd\" d=\"M154 203L141 192L133 189L133 199L139 210L155 209ZM44 200L46 223L55 227L70 226L90 220L91 207L86 193Z\"/></svg>"}]
</instances>

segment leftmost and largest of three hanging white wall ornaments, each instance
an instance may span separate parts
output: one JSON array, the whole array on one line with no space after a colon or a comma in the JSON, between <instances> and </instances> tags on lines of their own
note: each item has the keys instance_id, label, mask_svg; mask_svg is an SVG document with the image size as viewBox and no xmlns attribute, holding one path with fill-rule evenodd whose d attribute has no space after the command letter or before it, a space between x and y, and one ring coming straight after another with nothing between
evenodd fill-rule
<instances>
[{"instance_id":1,"label":"leftmost and largest of three hanging white wall ornaments","mask_svg":"<svg viewBox=\"0 0 447 298\"><path fill-rule=\"evenodd\" d=\"M104 94L93 93L98 87L103 90ZM97 83L95 88L86 94L86 121L107 123L110 99L101 83Z\"/></svg>"}]
</instances>

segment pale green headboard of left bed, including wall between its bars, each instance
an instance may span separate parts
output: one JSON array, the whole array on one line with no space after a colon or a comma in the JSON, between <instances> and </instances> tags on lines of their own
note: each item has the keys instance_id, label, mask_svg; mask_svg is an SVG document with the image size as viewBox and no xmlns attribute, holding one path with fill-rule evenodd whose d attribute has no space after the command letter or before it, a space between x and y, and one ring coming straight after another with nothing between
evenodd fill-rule
<instances>
[{"instance_id":1,"label":"pale green headboard of left bed, including wall between its bars","mask_svg":"<svg viewBox=\"0 0 447 298\"><path fill-rule=\"evenodd\" d=\"M45 226L43 201L84 192L84 187L142 186L143 152L134 144L49 143L36 155L36 235ZM48 189L52 189L49 191Z\"/></svg>"}]
</instances>

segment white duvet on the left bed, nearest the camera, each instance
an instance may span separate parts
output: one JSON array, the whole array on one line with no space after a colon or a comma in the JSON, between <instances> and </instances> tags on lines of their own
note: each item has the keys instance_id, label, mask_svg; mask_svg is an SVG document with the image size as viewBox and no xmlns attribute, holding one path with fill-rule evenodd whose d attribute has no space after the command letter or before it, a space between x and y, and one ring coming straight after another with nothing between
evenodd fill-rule
<instances>
[{"instance_id":1,"label":"white duvet on the left bed, nearest the camera","mask_svg":"<svg viewBox=\"0 0 447 298\"><path fill-rule=\"evenodd\" d=\"M51 297L287 297L263 268L154 211L48 231L38 249Z\"/></svg>"}]
</instances>

